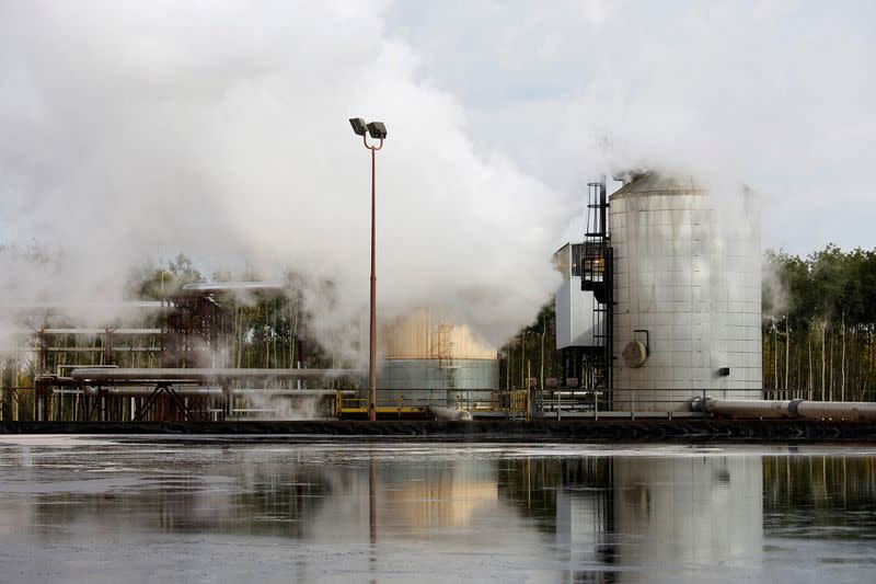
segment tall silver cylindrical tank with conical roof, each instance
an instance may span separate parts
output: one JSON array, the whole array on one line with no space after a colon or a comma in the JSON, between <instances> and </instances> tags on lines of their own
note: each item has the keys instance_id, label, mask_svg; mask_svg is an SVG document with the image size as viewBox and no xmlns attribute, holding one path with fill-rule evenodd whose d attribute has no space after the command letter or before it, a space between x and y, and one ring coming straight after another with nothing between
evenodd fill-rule
<instances>
[{"instance_id":1,"label":"tall silver cylindrical tank with conical roof","mask_svg":"<svg viewBox=\"0 0 876 584\"><path fill-rule=\"evenodd\" d=\"M721 205L717 205L721 203ZM760 209L690 176L642 174L610 198L614 410L760 398Z\"/></svg>"}]
</instances>

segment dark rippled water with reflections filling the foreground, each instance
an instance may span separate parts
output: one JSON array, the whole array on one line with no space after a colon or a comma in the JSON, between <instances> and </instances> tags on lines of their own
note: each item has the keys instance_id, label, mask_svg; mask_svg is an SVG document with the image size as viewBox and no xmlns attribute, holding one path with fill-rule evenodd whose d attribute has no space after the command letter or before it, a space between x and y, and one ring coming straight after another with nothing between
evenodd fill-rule
<instances>
[{"instance_id":1,"label":"dark rippled water with reflections filling the foreground","mask_svg":"<svg viewBox=\"0 0 876 584\"><path fill-rule=\"evenodd\" d=\"M876 448L0 436L1 582L873 582Z\"/></svg>"}]
</instances>

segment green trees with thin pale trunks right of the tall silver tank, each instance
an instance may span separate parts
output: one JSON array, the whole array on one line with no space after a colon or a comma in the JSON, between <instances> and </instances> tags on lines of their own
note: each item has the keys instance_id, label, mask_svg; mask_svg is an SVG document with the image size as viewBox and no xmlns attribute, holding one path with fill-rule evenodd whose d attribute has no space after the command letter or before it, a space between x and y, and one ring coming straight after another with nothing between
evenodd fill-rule
<instances>
[{"instance_id":1,"label":"green trees with thin pale trunks right of the tall silver tank","mask_svg":"<svg viewBox=\"0 0 876 584\"><path fill-rule=\"evenodd\" d=\"M876 250L833 244L799 256L768 251L763 382L820 400L872 400Z\"/></svg>"}]
</instances>

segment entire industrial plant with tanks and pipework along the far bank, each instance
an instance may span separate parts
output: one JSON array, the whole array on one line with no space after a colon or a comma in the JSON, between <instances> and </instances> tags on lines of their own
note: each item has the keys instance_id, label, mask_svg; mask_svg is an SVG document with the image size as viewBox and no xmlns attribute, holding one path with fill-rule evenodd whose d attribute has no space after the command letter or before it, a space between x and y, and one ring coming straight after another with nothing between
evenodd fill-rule
<instances>
[{"instance_id":1,"label":"entire industrial plant with tanks and pipework along the far bank","mask_svg":"<svg viewBox=\"0 0 876 584\"><path fill-rule=\"evenodd\" d=\"M716 197L696 178L654 171L614 180L611 194L604 176L589 183L584 232L554 254L555 327L540 342L542 352L553 343L562 363L550 371L429 307L382 318L377 422L368 422L369 371L338 365L313 341L300 293L270 282L192 283L123 302L100 328L77 325L70 314L82 307L16 307L23 334L3 357L0 427L876 437L876 403L763 387L756 194Z\"/></svg>"}]
</instances>

